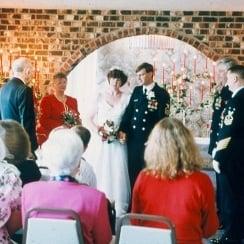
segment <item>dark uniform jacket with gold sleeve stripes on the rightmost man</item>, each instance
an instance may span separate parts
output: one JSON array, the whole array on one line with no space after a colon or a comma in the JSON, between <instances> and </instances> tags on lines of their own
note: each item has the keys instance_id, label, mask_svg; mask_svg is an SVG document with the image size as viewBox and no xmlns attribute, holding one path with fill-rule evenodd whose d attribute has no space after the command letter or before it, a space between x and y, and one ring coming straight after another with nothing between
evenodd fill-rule
<instances>
[{"instance_id":1,"label":"dark uniform jacket with gold sleeve stripes on the rightmost man","mask_svg":"<svg viewBox=\"0 0 244 244\"><path fill-rule=\"evenodd\" d=\"M244 187L244 88L223 110L216 144L214 160L219 162L221 172L231 182L238 182L238 187Z\"/></svg>"}]
</instances>

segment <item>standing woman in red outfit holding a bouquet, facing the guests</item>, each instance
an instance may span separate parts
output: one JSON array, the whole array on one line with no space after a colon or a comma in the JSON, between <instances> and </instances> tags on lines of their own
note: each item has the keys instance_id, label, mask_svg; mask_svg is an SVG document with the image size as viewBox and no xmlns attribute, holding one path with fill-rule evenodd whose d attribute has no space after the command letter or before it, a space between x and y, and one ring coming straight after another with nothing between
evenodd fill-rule
<instances>
[{"instance_id":1,"label":"standing woman in red outfit holding a bouquet, facing the guests","mask_svg":"<svg viewBox=\"0 0 244 244\"><path fill-rule=\"evenodd\" d=\"M53 77L53 94L42 98L37 123L37 140L41 145L46 141L52 129L66 125L71 127L79 124L77 100L64 94L67 76L57 73Z\"/></svg>"}]
</instances>

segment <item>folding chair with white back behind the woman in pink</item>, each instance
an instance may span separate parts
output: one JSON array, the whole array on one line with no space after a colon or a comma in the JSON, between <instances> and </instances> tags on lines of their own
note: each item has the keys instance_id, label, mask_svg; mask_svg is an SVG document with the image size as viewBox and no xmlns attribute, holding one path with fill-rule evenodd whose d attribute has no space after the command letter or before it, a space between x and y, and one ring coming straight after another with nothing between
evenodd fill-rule
<instances>
[{"instance_id":1,"label":"folding chair with white back behind the woman in pink","mask_svg":"<svg viewBox=\"0 0 244 244\"><path fill-rule=\"evenodd\" d=\"M33 213L41 217L32 217ZM83 244L79 215L70 209L33 208L26 214L23 243Z\"/></svg>"}]
</instances>

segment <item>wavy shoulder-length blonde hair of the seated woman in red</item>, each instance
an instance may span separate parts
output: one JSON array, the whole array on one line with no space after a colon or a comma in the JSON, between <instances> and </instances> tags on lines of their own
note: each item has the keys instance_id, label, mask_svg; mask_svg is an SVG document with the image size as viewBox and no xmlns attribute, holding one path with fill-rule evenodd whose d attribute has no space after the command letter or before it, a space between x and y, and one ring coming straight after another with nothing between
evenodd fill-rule
<instances>
[{"instance_id":1,"label":"wavy shoulder-length blonde hair of the seated woman in red","mask_svg":"<svg viewBox=\"0 0 244 244\"><path fill-rule=\"evenodd\" d=\"M200 169L202 158L191 132L177 119L165 118L152 130L145 149L146 171L173 179Z\"/></svg>"}]
</instances>

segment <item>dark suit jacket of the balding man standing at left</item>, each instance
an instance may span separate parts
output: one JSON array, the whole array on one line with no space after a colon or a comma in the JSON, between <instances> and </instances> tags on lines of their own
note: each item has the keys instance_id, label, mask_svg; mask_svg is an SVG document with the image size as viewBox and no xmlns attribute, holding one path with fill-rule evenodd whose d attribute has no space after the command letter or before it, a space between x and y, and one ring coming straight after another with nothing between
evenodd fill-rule
<instances>
[{"instance_id":1,"label":"dark suit jacket of the balding man standing at left","mask_svg":"<svg viewBox=\"0 0 244 244\"><path fill-rule=\"evenodd\" d=\"M37 148L33 93L18 78L10 79L0 90L0 119L19 122L29 134L32 150Z\"/></svg>"}]
</instances>

